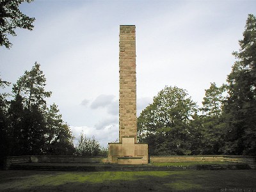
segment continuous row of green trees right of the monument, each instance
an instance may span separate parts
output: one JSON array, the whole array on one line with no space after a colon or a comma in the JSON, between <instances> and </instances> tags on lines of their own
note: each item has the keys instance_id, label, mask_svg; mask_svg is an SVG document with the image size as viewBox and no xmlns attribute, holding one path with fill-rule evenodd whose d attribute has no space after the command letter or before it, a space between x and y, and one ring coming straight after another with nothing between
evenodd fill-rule
<instances>
[{"instance_id":1,"label":"continuous row of green trees right of the monument","mask_svg":"<svg viewBox=\"0 0 256 192\"><path fill-rule=\"evenodd\" d=\"M198 108L188 93L165 87L138 118L138 140L150 155L256 155L256 19L248 15L237 61Z\"/></svg>"}]
</instances>

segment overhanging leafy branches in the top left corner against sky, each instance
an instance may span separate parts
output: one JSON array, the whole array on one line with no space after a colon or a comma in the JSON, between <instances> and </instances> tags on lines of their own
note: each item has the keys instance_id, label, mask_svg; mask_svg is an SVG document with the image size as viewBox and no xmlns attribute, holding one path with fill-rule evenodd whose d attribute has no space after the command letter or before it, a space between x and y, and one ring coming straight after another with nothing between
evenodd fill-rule
<instances>
[{"instance_id":1,"label":"overhanging leafy branches in the top left corner against sky","mask_svg":"<svg viewBox=\"0 0 256 192\"><path fill-rule=\"evenodd\" d=\"M16 36L15 28L33 29L35 18L19 10L19 4L24 1L30 3L33 0L0 0L0 46L4 45L7 49L12 47L8 35Z\"/></svg>"}]
</instances>

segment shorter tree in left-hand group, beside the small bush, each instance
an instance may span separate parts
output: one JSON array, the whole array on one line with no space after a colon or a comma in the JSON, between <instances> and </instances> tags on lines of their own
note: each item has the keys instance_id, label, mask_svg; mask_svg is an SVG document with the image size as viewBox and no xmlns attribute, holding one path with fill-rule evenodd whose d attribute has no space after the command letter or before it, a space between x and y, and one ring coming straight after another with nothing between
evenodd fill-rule
<instances>
[{"instance_id":1,"label":"shorter tree in left-hand group, beside the small bush","mask_svg":"<svg viewBox=\"0 0 256 192\"><path fill-rule=\"evenodd\" d=\"M45 134L45 151L47 154L72 155L75 152L70 127L63 122L60 110L52 104L47 110L47 133Z\"/></svg>"}]
</instances>

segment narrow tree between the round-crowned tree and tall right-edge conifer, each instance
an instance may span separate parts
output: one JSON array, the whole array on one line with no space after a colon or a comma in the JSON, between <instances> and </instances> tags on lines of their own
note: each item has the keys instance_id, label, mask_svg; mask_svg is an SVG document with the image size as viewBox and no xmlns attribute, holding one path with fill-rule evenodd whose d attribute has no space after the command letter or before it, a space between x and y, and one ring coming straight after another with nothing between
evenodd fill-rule
<instances>
[{"instance_id":1,"label":"narrow tree between the round-crowned tree and tall right-edge conifer","mask_svg":"<svg viewBox=\"0 0 256 192\"><path fill-rule=\"evenodd\" d=\"M222 154L224 145L225 122L223 120L223 92L224 86L218 88L216 83L211 83L205 90L202 122L202 154Z\"/></svg>"}]
</instances>

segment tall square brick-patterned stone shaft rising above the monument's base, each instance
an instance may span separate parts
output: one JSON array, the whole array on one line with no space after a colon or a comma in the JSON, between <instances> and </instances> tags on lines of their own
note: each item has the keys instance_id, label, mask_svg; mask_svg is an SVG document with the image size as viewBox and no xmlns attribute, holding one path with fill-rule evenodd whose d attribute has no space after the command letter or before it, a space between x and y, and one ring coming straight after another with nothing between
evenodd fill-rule
<instances>
[{"instance_id":1,"label":"tall square brick-patterned stone shaft rising above the monument's base","mask_svg":"<svg viewBox=\"0 0 256 192\"><path fill-rule=\"evenodd\" d=\"M136 141L136 44L135 26L120 26L119 34L119 142Z\"/></svg>"}]
</instances>

